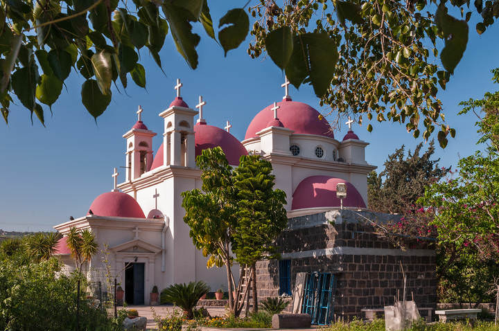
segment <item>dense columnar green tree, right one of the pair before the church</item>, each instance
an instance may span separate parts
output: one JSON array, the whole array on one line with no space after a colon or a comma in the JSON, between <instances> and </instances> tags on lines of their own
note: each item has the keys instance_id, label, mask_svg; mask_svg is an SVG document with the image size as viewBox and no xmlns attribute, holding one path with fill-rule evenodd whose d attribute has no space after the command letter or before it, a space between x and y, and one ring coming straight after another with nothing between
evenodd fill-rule
<instances>
[{"instance_id":1,"label":"dense columnar green tree, right one of the pair before the church","mask_svg":"<svg viewBox=\"0 0 499 331\"><path fill-rule=\"evenodd\" d=\"M286 193L274 190L272 163L252 154L242 156L234 170L238 217L232 251L252 270L253 309L258 311L256 262L278 258L274 240L286 228ZM249 284L248 284L249 286Z\"/></svg>"}]
</instances>

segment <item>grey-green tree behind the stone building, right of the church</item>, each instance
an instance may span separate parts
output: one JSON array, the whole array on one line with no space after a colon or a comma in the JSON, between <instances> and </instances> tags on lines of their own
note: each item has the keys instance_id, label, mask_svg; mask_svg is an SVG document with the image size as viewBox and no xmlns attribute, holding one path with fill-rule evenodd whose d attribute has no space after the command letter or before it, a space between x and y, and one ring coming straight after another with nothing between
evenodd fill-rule
<instances>
[{"instance_id":1,"label":"grey-green tree behind the stone building, right of the church","mask_svg":"<svg viewBox=\"0 0 499 331\"><path fill-rule=\"evenodd\" d=\"M426 186L438 182L445 177L450 168L440 167L440 159L432 159L435 144L430 142L428 150L421 153L423 143L417 145L414 152L408 151L405 157L405 146L395 150L385 161L385 169L376 174L369 174L367 179L367 201L369 208L381 213L398 213L405 215L419 207L417 199L422 197Z\"/></svg>"}]
</instances>

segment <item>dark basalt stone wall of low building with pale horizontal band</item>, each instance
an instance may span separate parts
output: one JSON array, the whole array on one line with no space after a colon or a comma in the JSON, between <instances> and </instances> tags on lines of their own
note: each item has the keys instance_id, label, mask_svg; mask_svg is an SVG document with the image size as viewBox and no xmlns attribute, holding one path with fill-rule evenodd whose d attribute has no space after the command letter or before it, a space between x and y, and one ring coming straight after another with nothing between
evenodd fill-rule
<instances>
[{"instance_id":1,"label":"dark basalt stone wall of low building with pale horizontal band","mask_svg":"<svg viewBox=\"0 0 499 331\"><path fill-rule=\"evenodd\" d=\"M369 220L387 222L392 215L362 212ZM364 308L392 305L403 296L402 263L407 276L407 299L418 307L437 302L435 251L430 247L401 251L379 229L351 211L334 211L290 219L278 240L283 260L291 261L291 286L298 272L331 272L336 277L336 318L362 318ZM259 300L279 296L279 262L256 265ZM291 310L288 306L288 311ZM423 313L423 312L422 312Z\"/></svg>"}]
</instances>

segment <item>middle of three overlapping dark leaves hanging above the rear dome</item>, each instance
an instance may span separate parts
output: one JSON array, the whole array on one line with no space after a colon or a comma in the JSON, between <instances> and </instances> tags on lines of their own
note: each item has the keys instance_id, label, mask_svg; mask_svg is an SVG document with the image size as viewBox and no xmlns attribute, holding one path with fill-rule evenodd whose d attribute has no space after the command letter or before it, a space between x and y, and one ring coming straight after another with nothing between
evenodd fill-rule
<instances>
[{"instance_id":1,"label":"middle of three overlapping dark leaves hanging above the rear dome","mask_svg":"<svg viewBox=\"0 0 499 331\"><path fill-rule=\"evenodd\" d=\"M308 76L308 50L302 35L293 37L293 48L288 65L286 77L297 89Z\"/></svg>"}]
</instances>

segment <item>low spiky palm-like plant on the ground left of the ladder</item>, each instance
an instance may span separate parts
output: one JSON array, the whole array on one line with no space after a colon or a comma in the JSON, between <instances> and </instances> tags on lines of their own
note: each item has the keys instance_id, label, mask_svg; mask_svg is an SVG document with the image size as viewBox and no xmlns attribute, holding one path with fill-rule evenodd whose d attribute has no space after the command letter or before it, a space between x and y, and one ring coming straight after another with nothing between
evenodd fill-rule
<instances>
[{"instance_id":1,"label":"low spiky palm-like plant on the ground left of the ladder","mask_svg":"<svg viewBox=\"0 0 499 331\"><path fill-rule=\"evenodd\" d=\"M173 284L163 290L161 297L164 300L177 305L184 310L187 319L193 319L193 309L201 296L210 291L209 286L202 282L191 282L189 284Z\"/></svg>"}]
</instances>

